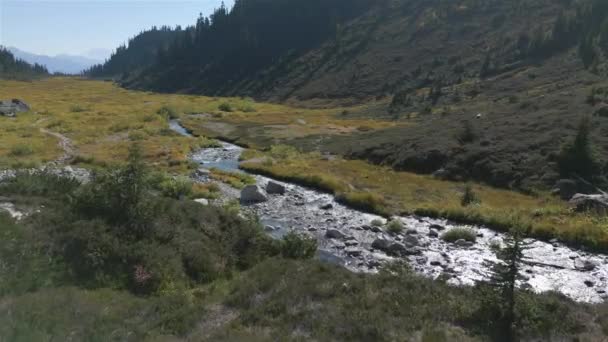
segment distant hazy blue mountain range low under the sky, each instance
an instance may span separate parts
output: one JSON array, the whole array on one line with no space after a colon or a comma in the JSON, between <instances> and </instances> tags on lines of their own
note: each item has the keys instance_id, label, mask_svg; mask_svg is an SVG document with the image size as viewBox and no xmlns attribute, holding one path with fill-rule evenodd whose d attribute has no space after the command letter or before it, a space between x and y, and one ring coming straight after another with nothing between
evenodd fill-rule
<instances>
[{"instance_id":1,"label":"distant hazy blue mountain range low under the sky","mask_svg":"<svg viewBox=\"0 0 608 342\"><path fill-rule=\"evenodd\" d=\"M60 72L64 74L79 74L83 70L90 68L92 65L103 62L102 59L67 54L57 56L38 55L19 50L15 47L9 47L8 50L16 58L22 59L30 64L40 64L46 66L51 73Z\"/></svg>"}]
</instances>

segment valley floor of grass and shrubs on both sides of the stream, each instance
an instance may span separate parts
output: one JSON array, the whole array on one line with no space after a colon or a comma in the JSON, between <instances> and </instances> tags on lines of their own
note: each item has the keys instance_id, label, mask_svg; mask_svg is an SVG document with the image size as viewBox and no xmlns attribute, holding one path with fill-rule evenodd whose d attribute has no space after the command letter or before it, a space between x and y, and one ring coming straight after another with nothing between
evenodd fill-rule
<instances>
[{"instance_id":1,"label":"valley floor of grass and shrubs on both sides of the stream","mask_svg":"<svg viewBox=\"0 0 608 342\"><path fill-rule=\"evenodd\" d=\"M69 191L61 181L55 185L27 176L0 187L12 201L48 208L18 223L0 215L5 242L0 244L0 311L9 313L0 315L0 337L11 341L68 335L102 340L108 331L127 340L496 338L497 327L487 319L496 312L487 311L495 308L487 306L491 295L483 286L452 287L399 265L360 275L318 261L292 260L293 254L277 250L284 246L270 246L258 235L261 227L236 218L230 205L207 207L203 215L191 201L177 200L186 188L188 198L219 196L217 186L187 181L199 167L189 155L218 146L214 138L249 146L241 163L247 170L334 193L366 211L444 217L500 230L523 227L543 239L608 250L603 218L575 214L542 192L526 195L482 184L468 188L294 146L294 137L320 139L323 146L323 136L405 125L344 118L342 113L353 108L161 95L76 78L0 81L1 98L23 99L33 110L14 119L0 117L0 169L53 163L114 172L109 170L122 165L137 143L155 171L149 177L155 196L149 200L158 209L153 214L144 210L153 216L152 235L130 240L130 234L142 234L129 216L139 208L116 222L114 214L107 216L115 208L103 206L123 198L122 190L107 196L99 191L116 189L112 182L122 179L114 179L115 174L101 177L99 184L69 185ZM169 128L177 118L196 138ZM220 170L210 177L235 188L252 181ZM463 205L470 190L476 200ZM163 229L167 226L175 232ZM102 233L91 234L91 228ZM197 245L199 240L206 244ZM82 268L83 260L92 270ZM152 280L148 270L153 270ZM577 304L552 293L520 296L523 318L517 329L522 337L595 341L608 334L605 305Z\"/></svg>"}]
</instances>

